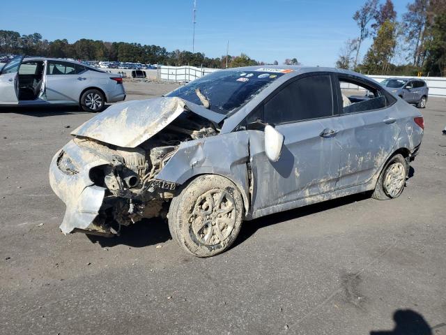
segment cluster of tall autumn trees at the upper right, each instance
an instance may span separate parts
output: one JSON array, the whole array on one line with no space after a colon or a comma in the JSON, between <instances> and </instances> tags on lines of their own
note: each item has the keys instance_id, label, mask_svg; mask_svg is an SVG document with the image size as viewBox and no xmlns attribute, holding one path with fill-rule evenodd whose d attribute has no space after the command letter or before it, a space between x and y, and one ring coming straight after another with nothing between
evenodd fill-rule
<instances>
[{"instance_id":1,"label":"cluster of tall autumn trees at the upper right","mask_svg":"<svg viewBox=\"0 0 446 335\"><path fill-rule=\"evenodd\" d=\"M399 22L392 0L366 0L353 15L359 34L341 47L336 66L370 74L446 76L446 0L414 0L406 8ZM367 38L373 42L360 62Z\"/></svg>"}]
</instances>

